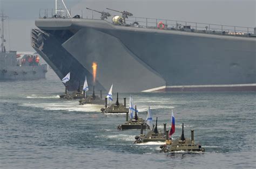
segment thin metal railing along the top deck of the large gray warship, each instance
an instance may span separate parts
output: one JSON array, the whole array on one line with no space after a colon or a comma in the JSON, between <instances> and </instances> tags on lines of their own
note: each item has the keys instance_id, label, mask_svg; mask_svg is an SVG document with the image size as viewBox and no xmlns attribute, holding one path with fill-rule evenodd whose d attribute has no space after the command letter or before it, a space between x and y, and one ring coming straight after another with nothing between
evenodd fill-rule
<instances>
[{"instance_id":1,"label":"thin metal railing along the top deck of the large gray warship","mask_svg":"<svg viewBox=\"0 0 256 169\"><path fill-rule=\"evenodd\" d=\"M59 9L57 13L55 12L55 9L40 9L39 18L63 18L63 19L73 18L69 16L69 13L71 14L71 9L68 9L68 10ZM89 15L89 17L87 15L86 18L83 17L83 10L81 10L79 13L80 13L79 14L80 19L100 20L99 19L100 13L91 12L91 15ZM113 24L112 17L109 17L108 19L106 19L106 22ZM220 35L226 35L226 36L256 37L256 27L218 25L218 24L208 24L208 23L185 22L181 20L143 18L143 17L129 17L128 19L125 20L125 22L126 22L126 25L119 25L119 26L132 26L134 22L137 22L139 23L137 27L140 27L140 28L159 29L158 24L159 22L162 22L164 24L163 30L176 30L176 31L206 33L206 34L220 34Z\"/></svg>"}]
</instances>

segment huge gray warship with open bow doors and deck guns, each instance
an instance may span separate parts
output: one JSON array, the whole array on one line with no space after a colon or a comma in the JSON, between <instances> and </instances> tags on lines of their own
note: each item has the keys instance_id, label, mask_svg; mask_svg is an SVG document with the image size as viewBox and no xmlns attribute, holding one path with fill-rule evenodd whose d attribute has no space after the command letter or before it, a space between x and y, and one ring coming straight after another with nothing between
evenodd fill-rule
<instances>
[{"instance_id":1,"label":"huge gray warship with open bow doors and deck guns","mask_svg":"<svg viewBox=\"0 0 256 169\"><path fill-rule=\"evenodd\" d=\"M127 11L113 18L101 13L102 19L72 16L68 9L39 13L31 45L60 79L75 72L69 90L84 74L92 81L92 62L98 64L97 90L112 83L122 92L256 90L255 28L140 18Z\"/></svg>"}]
</instances>

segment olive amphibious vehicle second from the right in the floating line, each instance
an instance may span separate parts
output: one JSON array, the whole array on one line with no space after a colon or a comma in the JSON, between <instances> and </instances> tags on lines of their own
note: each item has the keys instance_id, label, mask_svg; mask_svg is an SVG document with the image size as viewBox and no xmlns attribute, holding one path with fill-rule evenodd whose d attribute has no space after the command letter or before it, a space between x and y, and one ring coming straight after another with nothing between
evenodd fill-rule
<instances>
[{"instance_id":1,"label":"olive amphibious vehicle second from the right in the floating line","mask_svg":"<svg viewBox=\"0 0 256 169\"><path fill-rule=\"evenodd\" d=\"M150 130L146 134L143 134L143 128L140 128L140 135L135 137L134 144L146 143L146 142L165 142L166 123L164 123L164 131L158 132L157 121L154 126L154 131Z\"/></svg>"}]
</instances>

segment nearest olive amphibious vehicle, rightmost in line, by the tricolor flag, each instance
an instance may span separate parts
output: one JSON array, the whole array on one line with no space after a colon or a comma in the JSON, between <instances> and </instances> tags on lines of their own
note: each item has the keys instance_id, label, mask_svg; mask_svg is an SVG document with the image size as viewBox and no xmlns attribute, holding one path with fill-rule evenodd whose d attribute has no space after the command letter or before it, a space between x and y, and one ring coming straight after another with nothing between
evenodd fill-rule
<instances>
[{"instance_id":1,"label":"nearest olive amphibious vehicle, rightmost in line, by the tricolor flag","mask_svg":"<svg viewBox=\"0 0 256 169\"><path fill-rule=\"evenodd\" d=\"M166 132L167 133L167 132ZM163 152L175 152L175 151L197 151L204 152L205 149L200 144L194 143L194 130L191 130L191 139L184 137L184 125L182 124L182 134L180 138L172 141L167 139L166 144L161 145L161 151Z\"/></svg>"}]
</instances>

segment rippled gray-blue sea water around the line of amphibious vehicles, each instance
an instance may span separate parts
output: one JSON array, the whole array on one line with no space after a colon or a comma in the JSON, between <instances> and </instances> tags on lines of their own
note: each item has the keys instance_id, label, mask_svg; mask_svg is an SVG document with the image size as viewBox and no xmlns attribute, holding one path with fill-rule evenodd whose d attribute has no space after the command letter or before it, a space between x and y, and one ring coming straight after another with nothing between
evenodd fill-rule
<instances>
[{"instance_id":1,"label":"rippled gray-blue sea water around the line of amphibious vehicles","mask_svg":"<svg viewBox=\"0 0 256 169\"><path fill-rule=\"evenodd\" d=\"M185 137L193 129L196 143L206 150L163 153L161 142L133 144L139 130L117 130L125 114L105 115L100 105L60 100L64 86L51 70L46 77L0 82L2 168L256 167L255 92L120 93L119 102L133 96L144 119L150 105L158 130L163 123L170 129L173 109L173 139L184 123Z\"/></svg>"}]
</instances>

